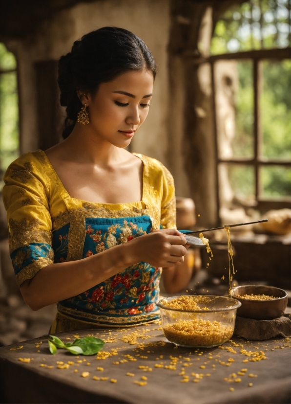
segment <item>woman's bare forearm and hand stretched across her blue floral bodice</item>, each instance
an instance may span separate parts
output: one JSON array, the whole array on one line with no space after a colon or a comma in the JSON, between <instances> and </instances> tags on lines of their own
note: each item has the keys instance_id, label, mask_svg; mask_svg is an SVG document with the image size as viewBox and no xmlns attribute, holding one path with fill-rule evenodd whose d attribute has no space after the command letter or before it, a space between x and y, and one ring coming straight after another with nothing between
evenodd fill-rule
<instances>
[{"instance_id":1,"label":"woman's bare forearm and hand stretched across her blue floral bodice","mask_svg":"<svg viewBox=\"0 0 291 404\"><path fill-rule=\"evenodd\" d=\"M137 262L170 269L184 260L185 236L175 229L158 230L78 261L51 264L21 284L32 310L76 296Z\"/></svg>"}]
</instances>

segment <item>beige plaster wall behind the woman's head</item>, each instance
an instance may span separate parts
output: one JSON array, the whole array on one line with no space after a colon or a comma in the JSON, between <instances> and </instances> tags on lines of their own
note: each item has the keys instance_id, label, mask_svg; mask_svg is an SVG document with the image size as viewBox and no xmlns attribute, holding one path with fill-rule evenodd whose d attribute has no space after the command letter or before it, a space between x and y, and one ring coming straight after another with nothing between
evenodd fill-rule
<instances>
[{"instance_id":1,"label":"beige plaster wall behind the woman's head","mask_svg":"<svg viewBox=\"0 0 291 404\"><path fill-rule=\"evenodd\" d=\"M8 43L19 62L21 153L38 148L34 63L58 60L82 35L103 26L119 26L141 37L151 50L158 75L145 123L131 151L155 157L167 165L169 0L99 0L80 3L45 22L33 38Z\"/></svg>"}]
</instances>

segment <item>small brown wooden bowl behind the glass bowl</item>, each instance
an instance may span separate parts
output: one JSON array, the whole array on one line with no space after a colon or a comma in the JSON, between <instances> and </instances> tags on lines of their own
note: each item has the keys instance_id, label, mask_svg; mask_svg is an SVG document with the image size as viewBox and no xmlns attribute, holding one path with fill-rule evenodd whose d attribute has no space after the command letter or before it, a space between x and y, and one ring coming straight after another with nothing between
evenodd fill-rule
<instances>
[{"instance_id":1,"label":"small brown wooden bowl behind the glass bowl","mask_svg":"<svg viewBox=\"0 0 291 404\"><path fill-rule=\"evenodd\" d=\"M239 317L253 318L255 320L272 320L281 317L287 307L288 296L283 289L273 286L242 285L232 289L233 297L241 302L241 307L237 310ZM267 294L277 297L272 300L251 300L242 299L237 295L244 294Z\"/></svg>"}]
</instances>

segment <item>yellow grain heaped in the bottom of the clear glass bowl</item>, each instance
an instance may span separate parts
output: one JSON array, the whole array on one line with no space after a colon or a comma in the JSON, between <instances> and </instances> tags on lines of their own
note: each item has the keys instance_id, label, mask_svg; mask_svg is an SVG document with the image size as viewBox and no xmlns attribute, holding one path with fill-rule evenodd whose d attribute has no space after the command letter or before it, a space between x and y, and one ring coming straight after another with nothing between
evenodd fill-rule
<instances>
[{"instance_id":1,"label":"yellow grain heaped in the bottom of the clear glass bowl","mask_svg":"<svg viewBox=\"0 0 291 404\"><path fill-rule=\"evenodd\" d=\"M215 346L226 342L233 334L232 327L201 318L178 320L167 324L163 331L169 341L186 346Z\"/></svg>"}]
</instances>

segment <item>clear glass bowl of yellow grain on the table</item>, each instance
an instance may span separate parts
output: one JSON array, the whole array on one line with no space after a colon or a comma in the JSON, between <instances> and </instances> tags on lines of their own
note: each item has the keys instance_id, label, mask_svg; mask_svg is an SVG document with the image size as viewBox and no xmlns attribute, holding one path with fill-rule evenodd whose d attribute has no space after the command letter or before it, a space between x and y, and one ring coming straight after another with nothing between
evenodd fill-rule
<instances>
[{"instance_id":1,"label":"clear glass bowl of yellow grain on the table","mask_svg":"<svg viewBox=\"0 0 291 404\"><path fill-rule=\"evenodd\" d=\"M179 297L193 299L201 310L166 306ZM212 348L232 337L236 311L241 302L223 296L187 295L166 297L157 305L161 311L163 333L168 341L187 348Z\"/></svg>"}]
</instances>

